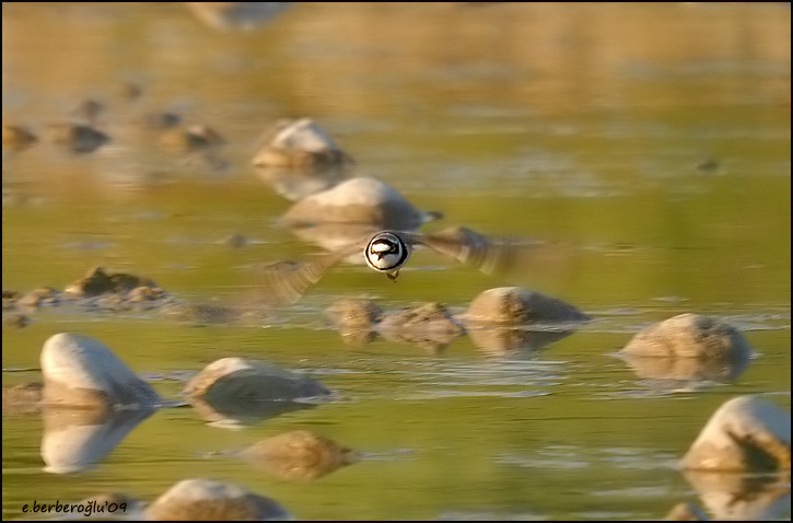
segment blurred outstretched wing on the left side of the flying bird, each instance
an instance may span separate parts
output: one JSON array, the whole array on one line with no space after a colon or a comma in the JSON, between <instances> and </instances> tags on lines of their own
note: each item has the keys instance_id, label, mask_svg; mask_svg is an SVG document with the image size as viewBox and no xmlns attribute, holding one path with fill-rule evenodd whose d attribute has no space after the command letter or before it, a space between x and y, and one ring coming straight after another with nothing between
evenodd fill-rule
<instances>
[{"instance_id":1,"label":"blurred outstretched wing on the left side of the flying bird","mask_svg":"<svg viewBox=\"0 0 793 523\"><path fill-rule=\"evenodd\" d=\"M317 284L325 272L343 258L363 249L354 243L303 262L277 262L265 268L265 292L277 304L294 303Z\"/></svg>"}]
</instances>

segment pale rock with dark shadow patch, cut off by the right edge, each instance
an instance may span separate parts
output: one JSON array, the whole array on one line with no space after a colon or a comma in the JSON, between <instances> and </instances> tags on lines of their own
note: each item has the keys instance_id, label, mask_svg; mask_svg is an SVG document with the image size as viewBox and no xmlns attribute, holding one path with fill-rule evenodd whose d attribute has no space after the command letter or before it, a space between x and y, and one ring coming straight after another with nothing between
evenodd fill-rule
<instances>
[{"instance_id":1,"label":"pale rock with dark shadow patch, cut off by the right edge","mask_svg":"<svg viewBox=\"0 0 793 523\"><path fill-rule=\"evenodd\" d=\"M680 466L743 473L790 470L790 412L760 396L739 396L715 411Z\"/></svg>"}]
</instances>

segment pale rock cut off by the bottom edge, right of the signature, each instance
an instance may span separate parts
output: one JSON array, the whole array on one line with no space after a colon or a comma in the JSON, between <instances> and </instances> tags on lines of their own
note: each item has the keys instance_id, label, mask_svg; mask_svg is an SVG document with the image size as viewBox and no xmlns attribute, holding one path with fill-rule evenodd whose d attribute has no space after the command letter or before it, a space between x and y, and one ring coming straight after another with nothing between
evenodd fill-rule
<instances>
[{"instance_id":1,"label":"pale rock cut off by the bottom edge, right of the signature","mask_svg":"<svg viewBox=\"0 0 793 523\"><path fill-rule=\"evenodd\" d=\"M291 520L270 498L211 479L185 479L174 485L147 510L151 521L269 521Z\"/></svg>"}]
</instances>

